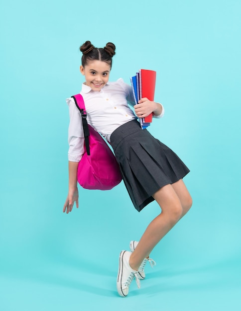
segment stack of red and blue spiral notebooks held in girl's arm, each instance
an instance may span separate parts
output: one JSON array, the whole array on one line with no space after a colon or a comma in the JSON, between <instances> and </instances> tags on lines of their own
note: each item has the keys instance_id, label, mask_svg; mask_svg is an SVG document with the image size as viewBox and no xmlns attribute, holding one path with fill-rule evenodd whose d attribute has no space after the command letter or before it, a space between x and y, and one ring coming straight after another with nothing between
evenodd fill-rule
<instances>
[{"instance_id":1,"label":"stack of red and blue spiral notebooks held in girl's arm","mask_svg":"<svg viewBox=\"0 0 241 311\"><path fill-rule=\"evenodd\" d=\"M144 97L154 101L156 83L155 71L140 69L135 76L130 77L130 83L136 104L138 104L138 101ZM145 118L140 118L139 121L142 129L147 128L152 122L152 113Z\"/></svg>"}]
</instances>

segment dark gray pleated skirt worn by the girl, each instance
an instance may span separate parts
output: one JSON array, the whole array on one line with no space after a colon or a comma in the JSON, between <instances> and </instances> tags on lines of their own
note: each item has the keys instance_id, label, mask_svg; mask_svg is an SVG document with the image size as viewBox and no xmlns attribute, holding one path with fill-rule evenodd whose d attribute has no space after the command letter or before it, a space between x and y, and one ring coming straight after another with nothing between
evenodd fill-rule
<instances>
[{"instance_id":1,"label":"dark gray pleated skirt worn by the girl","mask_svg":"<svg viewBox=\"0 0 241 311\"><path fill-rule=\"evenodd\" d=\"M140 212L161 187L183 178L190 170L166 145L155 139L137 120L121 125L111 135L125 187Z\"/></svg>"}]
</instances>

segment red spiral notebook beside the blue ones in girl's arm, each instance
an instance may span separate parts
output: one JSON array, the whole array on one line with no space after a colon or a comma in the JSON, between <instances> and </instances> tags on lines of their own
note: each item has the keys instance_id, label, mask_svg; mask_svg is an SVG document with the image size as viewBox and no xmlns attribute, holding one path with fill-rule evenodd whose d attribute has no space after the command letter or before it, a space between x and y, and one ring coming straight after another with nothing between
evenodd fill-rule
<instances>
[{"instance_id":1,"label":"red spiral notebook beside the blue ones in girl's arm","mask_svg":"<svg viewBox=\"0 0 241 311\"><path fill-rule=\"evenodd\" d=\"M146 97L151 101L154 101L155 84L156 84L156 72L153 70L140 69L140 98ZM152 113L144 118L145 123L152 121Z\"/></svg>"}]
</instances>

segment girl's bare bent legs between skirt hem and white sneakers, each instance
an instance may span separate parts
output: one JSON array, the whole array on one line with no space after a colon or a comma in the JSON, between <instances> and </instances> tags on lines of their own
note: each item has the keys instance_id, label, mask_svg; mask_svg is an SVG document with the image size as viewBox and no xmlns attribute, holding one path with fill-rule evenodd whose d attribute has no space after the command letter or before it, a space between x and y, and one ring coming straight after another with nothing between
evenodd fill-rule
<instances>
[{"instance_id":1,"label":"girl's bare bent legs between skirt hem and white sneakers","mask_svg":"<svg viewBox=\"0 0 241 311\"><path fill-rule=\"evenodd\" d=\"M162 211L149 224L130 256L129 264L133 270L138 270L143 259L149 256L154 246L175 226L192 205L191 196L182 179L172 185L162 187L154 193L153 198Z\"/></svg>"}]
</instances>

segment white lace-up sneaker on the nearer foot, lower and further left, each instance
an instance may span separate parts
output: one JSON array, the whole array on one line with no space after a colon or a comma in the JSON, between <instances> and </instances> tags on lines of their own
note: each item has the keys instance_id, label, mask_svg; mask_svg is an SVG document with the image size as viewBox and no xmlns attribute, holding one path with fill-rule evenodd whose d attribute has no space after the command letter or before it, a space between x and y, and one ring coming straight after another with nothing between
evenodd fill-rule
<instances>
[{"instance_id":1,"label":"white lace-up sneaker on the nearer foot, lower and further left","mask_svg":"<svg viewBox=\"0 0 241 311\"><path fill-rule=\"evenodd\" d=\"M138 271L131 269L129 265L130 251L122 250L119 259L119 271L117 276L117 291L121 297L128 295L129 285L135 277L137 287L140 288L140 280Z\"/></svg>"}]
</instances>

